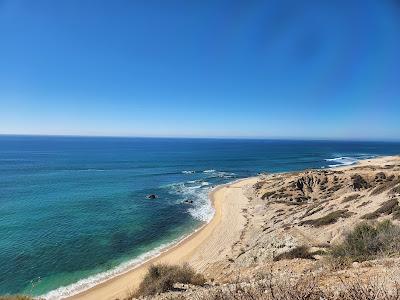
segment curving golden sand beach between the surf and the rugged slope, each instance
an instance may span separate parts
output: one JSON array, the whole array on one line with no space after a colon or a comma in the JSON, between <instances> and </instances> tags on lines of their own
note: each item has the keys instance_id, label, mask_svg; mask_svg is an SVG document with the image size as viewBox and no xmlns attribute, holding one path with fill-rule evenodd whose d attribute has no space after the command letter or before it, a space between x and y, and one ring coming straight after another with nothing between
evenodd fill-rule
<instances>
[{"instance_id":1,"label":"curving golden sand beach between the surf and the rugged slope","mask_svg":"<svg viewBox=\"0 0 400 300\"><path fill-rule=\"evenodd\" d=\"M246 187L251 188L257 179L247 178L217 187L210 193L215 214L209 223L161 255L68 299L123 299L139 286L150 264L189 263L197 271L204 271L223 260L231 252L232 243L240 239L246 222L242 210L249 202Z\"/></svg>"}]
</instances>

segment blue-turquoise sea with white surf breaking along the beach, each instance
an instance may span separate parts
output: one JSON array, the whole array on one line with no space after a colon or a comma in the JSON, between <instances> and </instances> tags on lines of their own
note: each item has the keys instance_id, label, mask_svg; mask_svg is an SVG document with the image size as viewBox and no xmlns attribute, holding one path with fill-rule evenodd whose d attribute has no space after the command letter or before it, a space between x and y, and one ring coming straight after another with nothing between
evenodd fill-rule
<instances>
[{"instance_id":1,"label":"blue-turquoise sea with white surf breaking along the beach","mask_svg":"<svg viewBox=\"0 0 400 300\"><path fill-rule=\"evenodd\" d=\"M132 267L210 220L215 185L392 154L400 143L0 136L0 294L57 298Z\"/></svg>"}]
</instances>

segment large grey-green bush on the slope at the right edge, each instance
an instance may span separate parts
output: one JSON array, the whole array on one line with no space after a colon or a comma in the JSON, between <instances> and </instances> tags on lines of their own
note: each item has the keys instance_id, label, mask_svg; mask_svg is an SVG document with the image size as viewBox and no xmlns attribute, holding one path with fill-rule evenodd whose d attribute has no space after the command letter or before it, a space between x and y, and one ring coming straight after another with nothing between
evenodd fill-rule
<instances>
[{"instance_id":1,"label":"large grey-green bush on the slope at the right edge","mask_svg":"<svg viewBox=\"0 0 400 300\"><path fill-rule=\"evenodd\" d=\"M400 226L391 221L361 223L347 234L340 245L332 247L331 255L340 260L365 261L379 256L400 254Z\"/></svg>"}]
</instances>

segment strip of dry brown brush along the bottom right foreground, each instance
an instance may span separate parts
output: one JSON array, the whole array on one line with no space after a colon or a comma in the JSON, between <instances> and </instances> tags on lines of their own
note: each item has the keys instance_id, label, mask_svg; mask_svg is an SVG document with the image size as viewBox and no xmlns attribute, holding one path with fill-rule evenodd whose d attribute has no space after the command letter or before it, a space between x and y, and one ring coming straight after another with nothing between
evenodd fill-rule
<instances>
[{"instance_id":1,"label":"strip of dry brown brush along the bottom right foreground","mask_svg":"<svg viewBox=\"0 0 400 300\"><path fill-rule=\"evenodd\" d=\"M261 275L254 282L237 282L190 294L171 294L168 300L400 300L400 288L394 283L389 288L378 279L349 281L341 278L330 286L321 286L319 278L305 275L300 279Z\"/></svg>"}]
</instances>

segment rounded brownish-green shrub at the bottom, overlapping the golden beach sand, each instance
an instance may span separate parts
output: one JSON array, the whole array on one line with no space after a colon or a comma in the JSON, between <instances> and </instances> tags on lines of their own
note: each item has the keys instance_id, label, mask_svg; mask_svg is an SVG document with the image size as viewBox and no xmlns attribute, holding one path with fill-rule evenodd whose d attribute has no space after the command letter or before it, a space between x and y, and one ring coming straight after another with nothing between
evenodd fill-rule
<instances>
[{"instance_id":1,"label":"rounded brownish-green shrub at the bottom, overlapping the golden beach sand","mask_svg":"<svg viewBox=\"0 0 400 300\"><path fill-rule=\"evenodd\" d=\"M203 275L196 273L188 264L172 266L152 265L140 283L135 296L150 296L174 289L174 284L204 285Z\"/></svg>"}]
</instances>

